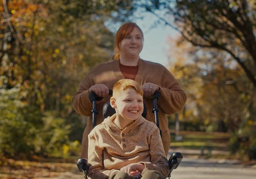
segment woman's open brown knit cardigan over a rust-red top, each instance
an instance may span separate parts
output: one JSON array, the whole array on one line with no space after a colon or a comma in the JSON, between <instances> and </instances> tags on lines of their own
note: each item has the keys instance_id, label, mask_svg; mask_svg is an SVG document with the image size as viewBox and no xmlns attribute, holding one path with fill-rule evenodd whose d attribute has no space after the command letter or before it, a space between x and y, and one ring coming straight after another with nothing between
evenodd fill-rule
<instances>
[{"instance_id":1,"label":"woman's open brown knit cardigan over a rust-red top","mask_svg":"<svg viewBox=\"0 0 256 179\"><path fill-rule=\"evenodd\" d=\"M112 89L115 82L124 79L124 75L119 69L120 60L113 60L96 65L88 74L83 78L77 92L72 99L72 105L75 111L83 116L89 116L88 123L85 131L83 132L82 141L82 158L88 158L88 134L92 130L92 104L89 100L89 88L92 85L102 83ZM150 82L160 87L160 99L157 101L159 108L159 124L162 130L162 141L164 145L165 154L168 154L170 148L170 133L168 129L168 120L165 114L175 114L183 109L186 103L186 94L183 89L175 80L173 75L159 63L149 62L142 59L138 61L139 70L135 81L143 85ZM103 100L97 102L99 114L97 115L97 124L102 123L104 120L102 116L102 107L109 101L110 96L104 97ZM152 99L143 98L143 101L148 109L146 119L148 121L155 121L154 114L151 113L153 109Z\"/></svg>"}]
</instances>

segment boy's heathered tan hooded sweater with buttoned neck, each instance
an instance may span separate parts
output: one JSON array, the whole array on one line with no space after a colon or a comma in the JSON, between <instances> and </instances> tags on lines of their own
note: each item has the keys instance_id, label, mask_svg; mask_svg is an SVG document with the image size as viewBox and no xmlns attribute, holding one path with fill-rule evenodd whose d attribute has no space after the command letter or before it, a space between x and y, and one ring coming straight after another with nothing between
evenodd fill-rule
<instances>
[{"instance_id":1,"label":"boy's heathered tan hooded sweater with buttoned neck","mask_svg":"<svg viewBox=\"0 0 256 179\"><path fill-rule=\"evenodd\" d=\"M156 170L165 178L169 173L168 161L157 126L140 116L124 130L106 118L89 134L88 176L108 179L111 172L130 163L143 163L149 170Z\"/></svg>"}]
</instances>

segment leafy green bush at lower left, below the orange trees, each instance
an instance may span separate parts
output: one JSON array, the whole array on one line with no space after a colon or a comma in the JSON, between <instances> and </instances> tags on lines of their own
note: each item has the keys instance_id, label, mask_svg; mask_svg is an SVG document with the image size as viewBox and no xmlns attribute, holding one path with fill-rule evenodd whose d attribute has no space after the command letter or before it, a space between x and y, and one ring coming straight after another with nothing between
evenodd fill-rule
<instances>
[{"instance_id":1,"label":"leafy green bush at lower left, below the orange trees","mask_svg":"<svg viewBox=\"0 0 256 179\"><path fill-rule=\"evenodd\" d=\"M79 151L70 126L55 111L42 112L19 100L19 88L0 89L0 155L63 156Z\"/></svg>"}]
</instances>

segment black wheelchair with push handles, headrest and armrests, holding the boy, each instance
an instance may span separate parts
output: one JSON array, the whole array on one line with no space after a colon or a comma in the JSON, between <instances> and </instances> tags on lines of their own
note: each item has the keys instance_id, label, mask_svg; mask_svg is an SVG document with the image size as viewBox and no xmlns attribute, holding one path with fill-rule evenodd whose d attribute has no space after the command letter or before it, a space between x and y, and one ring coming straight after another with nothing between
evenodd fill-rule
<instances>
[{"instance_id":1,"label":"black wheelchair with push handles, headrest and armrests, holding the boy","mask_svg":"<svg viewBox=\"0 0 256 179\"><path fill-rule=\"evenodd\" d=\"M112 95L113 91L109 90L109 95ZM154 93L154 98L153 98L153 106L154 109L152 109L152 113L154 113L155 115L155 124L157 125L157 127L159 128L159 121L158 121L158 107L157 107L157 100L160 97L160 92L159 91L155 91ZM96 101L100 101L103 99L103 97L98 97L96 96L96 94L94 92L89 93L89 99L92 103L92 124L93 124L93 128L96 126L96 115L99 114L99 111L97 110L97 104ZM108 116L112 116L113 114L115 114L115 109L113 109L110 106L109 102L106 102L103 106L103 117L107 118ZM142 113L142 116L145 118L147 115L147 108L144 104L144 110ZM160 135L162 137L162 132L159 128L160 131ZM183 155L180 152L174 152L171 154L168 163L169 163L169 175L168 178L170 179L171 177L171 172L173 171L173 169L176 169L178 167L178 165L180 164L181 160L183 159ZM84 174L84 178L88 179L87 177L87 172L89 169L89 163L88 160L85 158L80 158L77 161L77 167L79 172L83 172ZM135 179L140 179L140 177L135 177Z\"/></svg>"}]
</instances>

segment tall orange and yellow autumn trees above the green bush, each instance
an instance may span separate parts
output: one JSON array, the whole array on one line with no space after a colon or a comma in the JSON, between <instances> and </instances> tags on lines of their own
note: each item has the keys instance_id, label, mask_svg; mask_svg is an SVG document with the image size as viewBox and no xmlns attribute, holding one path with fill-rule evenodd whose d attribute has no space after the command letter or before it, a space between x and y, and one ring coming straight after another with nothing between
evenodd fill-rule
<instances>
[{"instance_id":1,"label":"tall orange and yellow autumn trees above the green bush","mask_svg":"<svg viewBox=\"0 0 256 179\"><path fill-rule=\"evenodd\" d=\"M126 1L84 0L2 3L0 74L7 77L7 88L21 84L33 91L24 100L48 109L61 106L62 83L77 86L92 66L109 60L114 38L104 21L129 6ZM55 104L47 103L53 98Z\"/></svg>"}]
</instances>

